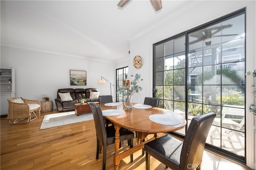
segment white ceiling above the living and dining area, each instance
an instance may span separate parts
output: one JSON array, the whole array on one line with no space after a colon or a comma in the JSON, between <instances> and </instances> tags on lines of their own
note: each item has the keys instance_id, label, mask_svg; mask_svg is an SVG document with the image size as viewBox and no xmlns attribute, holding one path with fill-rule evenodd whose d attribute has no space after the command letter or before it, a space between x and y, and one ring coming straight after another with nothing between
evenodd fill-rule
<instances>
[{"instance_id":1,"label":"white ceiling above the living and dining area","mask_svg":"<svg viewBox=\"0 0 256 170\"><path fill-rule=\"evenodd\" d=\"M116 62L128 57L129 39L192 1L2 1L1 45ZM188 3L189 2L189 3Z\"/></svg>"}]
</instances>

